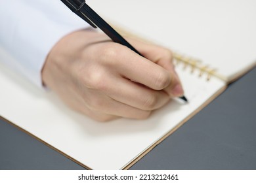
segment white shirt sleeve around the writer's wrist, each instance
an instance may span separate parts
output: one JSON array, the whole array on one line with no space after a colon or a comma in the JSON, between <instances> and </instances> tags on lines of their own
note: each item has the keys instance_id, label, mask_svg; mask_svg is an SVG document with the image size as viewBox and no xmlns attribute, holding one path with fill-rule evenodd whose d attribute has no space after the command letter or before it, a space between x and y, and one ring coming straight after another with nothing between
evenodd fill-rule
<instances>
[{"instance_id":1,"label":"white shirt sleeve around the writer's wrist","mask_svg":"<svg viewBox=\"0 0 256 183\"><path fill-rule=\"evenodd\" d=\"M0 49L14 58L0 61L41 87L41 69L54 44L89 24L60 0L6 0L0 1L0 27Z\"/></svg>"}]
</instances>

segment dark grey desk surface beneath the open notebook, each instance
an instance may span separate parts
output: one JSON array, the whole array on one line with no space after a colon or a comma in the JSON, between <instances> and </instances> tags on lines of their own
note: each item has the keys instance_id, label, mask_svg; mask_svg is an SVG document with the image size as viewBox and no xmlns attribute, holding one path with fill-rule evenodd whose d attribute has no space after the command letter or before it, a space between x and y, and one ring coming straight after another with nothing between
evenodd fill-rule
<instances>
[{"instance_id":1,"label":"dark grey desk surface beneath the open notebook","mask_svg":"<svg viewBox=\"0 0 256 183\"><path fill-rule=\"evenodd\" d=\"M131 169L256 169L256 68ZM0 169L83 169L0 120Z\"/></svg>"}]
</instances>

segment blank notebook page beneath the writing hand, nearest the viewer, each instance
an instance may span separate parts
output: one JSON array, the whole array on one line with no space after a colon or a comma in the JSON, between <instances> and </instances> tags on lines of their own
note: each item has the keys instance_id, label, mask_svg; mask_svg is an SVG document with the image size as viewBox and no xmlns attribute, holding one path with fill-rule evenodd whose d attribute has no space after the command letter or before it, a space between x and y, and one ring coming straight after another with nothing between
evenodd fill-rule
<instances>
[{"instance_id":1,"label":"blank notebook page beneath the writing hand, nearest the viewer","mask_svg":"<svg viewBox=\"0 0 256 183\"><path fill-rule=\"evenodd\" d=\"M0 59L12 59L3 50L0 56ZM119 119L102 123L77 114L54 93L35 88L0 65L0 116L91 169L122 169L225 85L215 78L206 82L188 70L182 71L181 66L177 71L188 104L175 99L148 120Z\"/></svg>"}]
</instances>

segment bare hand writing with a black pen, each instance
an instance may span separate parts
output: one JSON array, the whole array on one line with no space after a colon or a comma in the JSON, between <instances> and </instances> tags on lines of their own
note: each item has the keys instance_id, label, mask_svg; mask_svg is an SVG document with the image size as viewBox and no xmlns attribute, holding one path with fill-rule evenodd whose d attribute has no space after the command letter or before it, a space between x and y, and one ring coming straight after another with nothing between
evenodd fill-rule
<instances>
[{"instance_id":1,"label":"bare hand writing with a black pen","mask_svg":"<svg viewBox=\"0 0 256 183\"><path fill-rule=\"evenodd\" d=\"M53 47L43 83L74 110L98 121L144 119L183 95L171 52L127 39L145 57L94 31L77 31Z\"/></svg>"}]
</instances>

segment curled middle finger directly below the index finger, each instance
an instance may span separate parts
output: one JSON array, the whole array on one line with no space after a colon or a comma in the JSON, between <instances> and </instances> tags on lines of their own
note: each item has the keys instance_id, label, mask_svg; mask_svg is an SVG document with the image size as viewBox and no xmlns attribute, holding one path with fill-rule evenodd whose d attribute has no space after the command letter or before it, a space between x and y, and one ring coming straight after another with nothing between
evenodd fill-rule
<instances>
[{"instance_id":1,"label":"curled middle finger directly below the index finger","mask_svg":"<svg viewBox=\"0 0 256 183\"><path fill-rule=\"evenodd\" d=\"M152 90L142 84L133 82L121 76L110 75L108 72L93 72L91 75L85 75L81 80L80 87L83 92L81 95L87 97L86 101L97 96L99 100L104 100L104 95L108 95L112 99L124 103L131 107L141 110L154 110L160 108L170 99L166 92ZM87 92L90 88L92 92ZM99 95L99 92L102 95ZM97 103L100 103L98 101Z\"/></svg>"}]
</instances>

